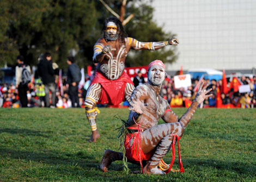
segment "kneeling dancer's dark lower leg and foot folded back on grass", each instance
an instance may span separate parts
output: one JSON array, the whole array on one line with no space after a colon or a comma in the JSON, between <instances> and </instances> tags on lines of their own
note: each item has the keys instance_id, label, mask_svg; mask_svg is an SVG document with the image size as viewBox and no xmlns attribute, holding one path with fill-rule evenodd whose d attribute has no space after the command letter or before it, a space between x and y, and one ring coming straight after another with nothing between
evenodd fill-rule
<instances>
[{"instance_id":1,"label":"kneeling dancer's dark lower leg and foot folded back on grass","mask_svg":"<svg viewBox=\"0 0 256 182\"><path fill-rule=\"evenodd\" d=\"M100 162L101 170L103 172L108 172L107 167L110 166L112 162L117 160L123 160L123 153L106 149Z\"/></svg>"}]
</instances>

